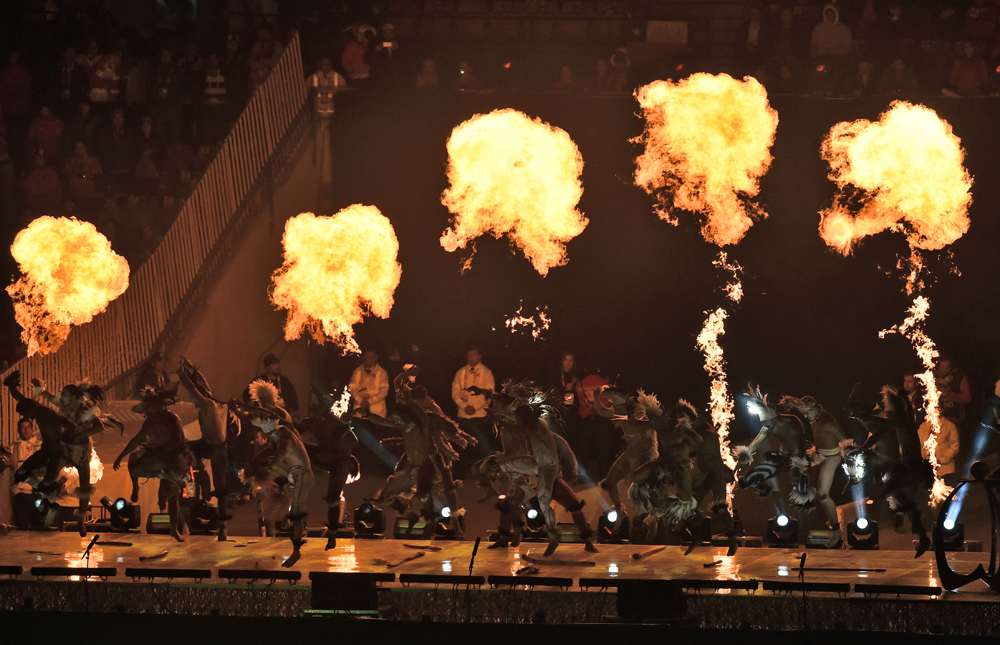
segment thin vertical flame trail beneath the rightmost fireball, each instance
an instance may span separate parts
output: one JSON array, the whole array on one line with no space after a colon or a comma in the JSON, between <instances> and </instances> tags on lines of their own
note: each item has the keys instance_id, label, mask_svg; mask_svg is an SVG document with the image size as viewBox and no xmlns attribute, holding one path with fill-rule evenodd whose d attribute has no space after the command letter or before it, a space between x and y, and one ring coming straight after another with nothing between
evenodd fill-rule
<instances>
[{"instance_id":1,"label":"thin vertical flame trail beneath the rightmost fireball","mask_svg":"<svg viewBox=\"0 0 1000 645\"><path fill-rule=\"evenodd\" d=\"M924 365L924 371L917 374L916 377L923 384L924 392L926 392L924 409L927 413L927 421L931 424L931 431L927 433L927 439L924 441L924 450L927 451L927 459L934 468L934 485L931 487L929 501L931 506L937 506L948 497L951 488L937 474L937 438L938 433L941 432L941 395L934 378L934 361L938 357L938 351L934 346L934 341L924 333L923 329L923 322L927 319L927 311L930 306L930 300L924 296L917 296L913 299L913 305L907 310L909 315L906 320L891 329L880 331L879 338L885 338L886 334L902 334L913 345L920 362Z\"/></svg>"}]
</instances>

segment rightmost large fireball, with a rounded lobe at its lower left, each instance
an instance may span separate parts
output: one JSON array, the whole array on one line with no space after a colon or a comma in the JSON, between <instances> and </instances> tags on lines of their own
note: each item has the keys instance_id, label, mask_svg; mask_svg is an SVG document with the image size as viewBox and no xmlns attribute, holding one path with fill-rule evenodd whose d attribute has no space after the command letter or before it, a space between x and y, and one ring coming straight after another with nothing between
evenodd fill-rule
<instances>
[{"instance_id":1,"label":"rightmost large fireball, with a rounded lobe at its lower left","mask_svg":"<svg viewBox=\"0 0 1000 645\"><path fill-rule=\"evenodd\" d=\"M903 231L910 247L937 250L969 230L972 178L961 140L930 108L892 104L879 121L833 126L821 148L840 193L820 213L820 235L843 255L867 235ZM851 212L848 186L863 191Z\"/></svg>"}]
</instances>

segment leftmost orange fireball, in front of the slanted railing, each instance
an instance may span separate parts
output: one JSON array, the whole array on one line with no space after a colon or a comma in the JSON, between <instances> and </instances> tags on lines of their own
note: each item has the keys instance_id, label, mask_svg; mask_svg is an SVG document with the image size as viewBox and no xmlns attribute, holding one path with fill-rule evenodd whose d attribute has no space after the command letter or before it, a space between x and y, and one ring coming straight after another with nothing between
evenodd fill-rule
<instances>
[{"instance_id":1,"label":"leftmost orange fireball, in front of the slanted railing","mask_svg":"<svg viewBox=\"0 0 1000 645\"><path fill-rule=\"evenodd\" d=\"M93 224L39 217L10 247L24 274L7 287L28 356L51 354L128 288L128 262Z\"/></svg>"}]
</instances>

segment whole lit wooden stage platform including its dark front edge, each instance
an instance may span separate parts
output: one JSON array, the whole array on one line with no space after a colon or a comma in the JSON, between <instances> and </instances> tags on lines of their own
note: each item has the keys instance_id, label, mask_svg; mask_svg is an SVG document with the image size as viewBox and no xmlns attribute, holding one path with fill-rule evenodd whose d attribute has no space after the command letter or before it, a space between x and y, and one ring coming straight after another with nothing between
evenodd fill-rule
<instances>
[{"instance_id":1,"label":"whole lit wooden stage platform including its dark front edge","mask_svg":"<svg viewBox=\"0 0 1000 645\"><path fill-rule=\"evenodd\" d=\"M933 553L914 559L905 551L809 550L800 577L801 549L742 548L727 557L724 548L685 556L671 546L637 560L633 555L656 547L600 545L600 553L591 554L580 544L563 544L544 558L541 543L491 550L484 542L473 570L482 579L470 581L458 576L469 573L472 542L354 539L324 551L325 539L310 539L301 560L285 569L291 544L283 538L220 543L187 536L181 544L168 536L103 533L88 564L82 555L92 537L14 532L0 538L6 574L0 610L298 616L323 604L313 594L322 581L313 578L361 573L391 578L374 592L386 618L584 623L624 620L630 612L617 602L619 585L641 579L679 581L683 595L671 611L688 626L1000 634L1000 595L984 584L930 595L938 586ZM984 553L949 555L956 571L988 560ZM59 570L87 566L100 576L84 582ZM281 579L287 575L298 580ZM799 582L810 587L788 585ZM727 585L756 588L714 588ZM663 602L676 605L677 599L664 596Z\"/></svg>"}]
</instances>

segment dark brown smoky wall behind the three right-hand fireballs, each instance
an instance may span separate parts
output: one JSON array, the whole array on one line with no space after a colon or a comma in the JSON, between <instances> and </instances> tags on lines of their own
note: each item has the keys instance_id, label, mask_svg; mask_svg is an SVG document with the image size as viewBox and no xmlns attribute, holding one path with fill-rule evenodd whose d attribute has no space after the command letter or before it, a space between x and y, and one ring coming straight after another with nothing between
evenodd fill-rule
<instances>
[{"instance_id":1,"label":"dark brown smoky wall behind the three right-hand fireballs","mask_svg":"<svg viewBox=\"0 0 1000 645\"><path fill-rule=\"evenodd\" d=\"M718 251L699 233L695 215L674 227L652 212L653 199L632 185L641 133L631 97L552 94L378 96L338 98L334 132L335 207L374 204L390 218L400 240L403 276L388 321L358 329L362 343L385 349L423 348L428 386L444 389L464 350L475 344L498 379L555 374L559 353L571 349L586 365L599 365L624 383L661 399L707 401L709 378L694 338L704 312L726 303L724 275L711 262ZM883 382L918 367L905 339L878 338L901 322L909 299L902 280L887 275L904 236L868 238L848 258L829 250L817 232L818 212L834 185L819 146L838 121L875 120L888 103L775 97L779 125L774 161L761 185L769 213L744 240L728 247L745 269L743 302L730 307L722 339L732 392L748 380L772 396L813 394L840 410L855 381L874 395ZM926 101L948 120L967 151L974 177L970 231L950 249L961 276L944 260L931 299L927 330L939 347L969 372L974 396L1000 376L996 279L1000 275L994 210L1000 167L994 159L1000 105L993 101ZM445 143L451 129L473 114L512 107L566 130L584 159L580 209L587 229L568 245L569 264L542 278L506 240L482 239L472 269L460 275L459 254L438 238L449 213L440 203L447 187ZM544 343L514 336L503 320L518 307L548 305L552 329ZM492 331L498 327L501 331ZM741 415L745 423L745 416ZM740 424L743 426L743 423Z\"/></svg>"}]
</instances>

